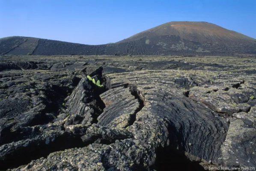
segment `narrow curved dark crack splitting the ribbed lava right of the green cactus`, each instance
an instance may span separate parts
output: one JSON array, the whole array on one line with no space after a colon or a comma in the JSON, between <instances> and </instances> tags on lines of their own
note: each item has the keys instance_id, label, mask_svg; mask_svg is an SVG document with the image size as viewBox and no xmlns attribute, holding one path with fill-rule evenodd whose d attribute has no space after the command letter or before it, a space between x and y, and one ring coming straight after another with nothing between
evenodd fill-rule
<instances>
[{"instance_id":1,"label":"narrow curved dark crack splitting the ribbed lava right of the green cactus","mask_svg":"<svg viewBox=\"0 0 256 171\"><path fill-rule=\"evenodd\" d=\"M131 126L135 121L136 121L136 114L140 112L140 110L144 107L145 105L145 97L141 94L140 90L137 89L136 85L130 85L129 86L131 95L135 97L135 99L138 99L139 101L139 108L137 108L134 112L133 115L131 115L129 121L128 121L128 126Z\"/></svg>"}]
</instances>

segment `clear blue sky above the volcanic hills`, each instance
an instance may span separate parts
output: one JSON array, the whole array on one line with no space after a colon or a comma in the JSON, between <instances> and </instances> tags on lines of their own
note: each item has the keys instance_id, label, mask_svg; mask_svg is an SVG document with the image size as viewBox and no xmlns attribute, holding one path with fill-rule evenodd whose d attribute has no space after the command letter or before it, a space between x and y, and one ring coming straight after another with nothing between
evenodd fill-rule
<instances>
[{"instance_id":1,"label":"clear blue sky above the volcanic hills","mask_svg":"<svg viewBox=\"0 0 256 171\"><path fill-rule=\"evenodd\" d=\"M0 38L106 44L170 21L207 21L256 38L256 0L0 0Z\"/></svg>"}]
</instances>

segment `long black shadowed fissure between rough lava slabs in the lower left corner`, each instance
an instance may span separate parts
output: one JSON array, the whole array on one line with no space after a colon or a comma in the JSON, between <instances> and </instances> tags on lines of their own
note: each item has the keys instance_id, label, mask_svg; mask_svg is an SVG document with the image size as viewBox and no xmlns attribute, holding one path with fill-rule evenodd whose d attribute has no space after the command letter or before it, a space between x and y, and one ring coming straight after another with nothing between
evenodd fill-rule
<instances>
[{"instance_id":1,"label":"long black shadowed fissure between rough lava slabs in the lower left corner","mask_svg":"<svg viewBox=\"0 0 256 171\"><path fill-rule=\"evenodd\" d=\"M0 158L1 170L18 167L19 165L27 164L31 160L47 157L55 151L84 146L80 136L74 136L63 131L57 133L57 130L48 136L47 133L50 132L42 133L32 139L24 139L2 145L0 154L1 156L4 155L4 158ZM24 157L24 151L30 155Z\"/></svg>"}]
</instances>

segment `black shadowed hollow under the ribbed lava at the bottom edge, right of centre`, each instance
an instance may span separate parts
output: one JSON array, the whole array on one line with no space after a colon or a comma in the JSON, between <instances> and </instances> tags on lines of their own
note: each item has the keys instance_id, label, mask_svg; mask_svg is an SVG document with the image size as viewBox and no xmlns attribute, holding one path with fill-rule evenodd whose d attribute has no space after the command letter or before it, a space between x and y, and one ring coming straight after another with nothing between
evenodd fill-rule
<instances>
[{"instance_id":1,"label":"black shadowed hollow under the ribbed lava at the bottom edge, right of centre","mask_svg":"<svg viewBox=\"0 0 256 171\"><path fill-rule=\"evenodd\" d=\"M156 171L204 171L205 169L199 165L199 161L191 161L185 155L185 152L174 149L170 146L158 147L156 150L155 164L150 169Z\"/></svg>"}]
</instances>

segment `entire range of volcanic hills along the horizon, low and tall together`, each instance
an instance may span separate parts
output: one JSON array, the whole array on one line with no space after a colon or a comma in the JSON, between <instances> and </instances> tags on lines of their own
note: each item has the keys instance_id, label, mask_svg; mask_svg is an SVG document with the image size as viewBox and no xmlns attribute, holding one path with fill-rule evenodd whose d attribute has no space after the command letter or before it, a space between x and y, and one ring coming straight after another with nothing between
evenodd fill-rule
<instances>
[{"instance_id":1,"label":"entire range of volcanic hills along the horizon, low and tall together","mask_svg":"<svg viewBox=\"0 0 256 171\"><path fill-rule=\"evenodd\" d=\"M41 38L0 38L0 54L13 55L238 55L256 54L256 39L207 22L173 21L122 41L101 45Z\"/></svg>"}]
</instances>

